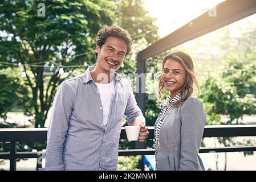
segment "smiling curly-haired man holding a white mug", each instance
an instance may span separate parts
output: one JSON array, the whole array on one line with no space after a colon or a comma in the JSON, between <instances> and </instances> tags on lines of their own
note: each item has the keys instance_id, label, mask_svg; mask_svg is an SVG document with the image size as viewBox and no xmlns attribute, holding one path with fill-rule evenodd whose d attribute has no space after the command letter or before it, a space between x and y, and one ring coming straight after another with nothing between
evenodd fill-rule
<instances>
[{"instance_id":1,"label":"smiling curly-haired man holding a white mug","mask_svg":"<svg viewBox=\"0 0 256 182\"><path fill-rule=\"evenodd\" d=\"M98 32L96 67L59 86L41 170L116 170L124 115L129 125L140 125L138 140L145 141L148 127L131 85L115 73L131 44L123 28L104 26Z\"/></svg>"}]
</instances>

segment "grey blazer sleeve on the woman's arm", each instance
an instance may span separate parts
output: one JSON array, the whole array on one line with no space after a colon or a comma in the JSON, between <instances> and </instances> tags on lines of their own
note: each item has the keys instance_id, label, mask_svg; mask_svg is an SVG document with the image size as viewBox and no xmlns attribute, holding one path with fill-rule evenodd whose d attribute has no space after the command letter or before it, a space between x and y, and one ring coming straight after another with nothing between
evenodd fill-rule
<instances>
[{"instance_id":1,"label":"grey blazer sleeve on the woman's arm","mask_svg":"<svg viewBox=\"0 0 256 182\"><path fill-rule=\"evenodd\" d=\"M206 122L202 102L188 98L181 109L181 158L179 170L200 170L197 154Z\"/></svg>"}]
</instances>

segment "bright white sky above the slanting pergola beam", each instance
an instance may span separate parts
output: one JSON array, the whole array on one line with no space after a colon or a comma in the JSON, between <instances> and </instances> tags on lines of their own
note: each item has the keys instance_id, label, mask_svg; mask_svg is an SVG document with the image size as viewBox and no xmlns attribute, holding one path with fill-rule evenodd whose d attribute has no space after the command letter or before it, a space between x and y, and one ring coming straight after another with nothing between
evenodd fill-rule
<instances>
[{"instance_id":1,"label":"bright white sky above the slanting pergola beam","mask_svg":"<svg viewBox=\"0 0 256 182\"><path fill-rule=\"evenodd\" d=\"M160 28L159 34L161 37L164 37L225 0L144 1L149 15L157 18L156 25Z\"/></svg>"}]
</instances>

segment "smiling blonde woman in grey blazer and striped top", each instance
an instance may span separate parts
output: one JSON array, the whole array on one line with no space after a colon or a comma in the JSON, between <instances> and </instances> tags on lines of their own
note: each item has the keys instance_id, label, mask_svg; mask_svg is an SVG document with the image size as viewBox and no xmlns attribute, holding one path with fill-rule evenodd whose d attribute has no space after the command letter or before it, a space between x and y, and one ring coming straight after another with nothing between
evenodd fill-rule
<instances>
[{"instance_id":1,"label":"smiling blonde woman in grey blazer and striped top","mask_svg":"<svg viewBox=\"0 0 256 182\"><path fill-rule=\"evenodd\" d=\"M193 84L199 90L193 61L184 52L174 52L162 61L159 101L169 97L155 123L157 170L205 170L198 151L206 114L202 102L191 97Z\"/></svg>"}]
</instances>

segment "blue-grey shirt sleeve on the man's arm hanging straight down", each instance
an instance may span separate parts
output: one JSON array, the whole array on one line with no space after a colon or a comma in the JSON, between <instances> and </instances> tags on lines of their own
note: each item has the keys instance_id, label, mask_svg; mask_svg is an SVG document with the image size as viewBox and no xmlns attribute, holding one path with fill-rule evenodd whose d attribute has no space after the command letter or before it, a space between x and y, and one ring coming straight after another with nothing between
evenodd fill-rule
<instances>
[{"instance_id":1,"label":"blue-grey shirt sleeve on the man's arm hanging straight down","mask_svg":"<svg viewBox=\"0 0 256 182\"><path fill-rule=\"evenodd\" d=\"M60 84L52 105L50 125L47 133L46 167L45 170L62 171L65 168L63 163L63 147L68 131L68 122L74 105L74 94L71 92L68 82Z\"/></svg>"}]
</instances>

